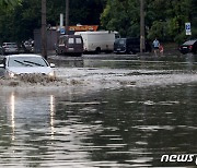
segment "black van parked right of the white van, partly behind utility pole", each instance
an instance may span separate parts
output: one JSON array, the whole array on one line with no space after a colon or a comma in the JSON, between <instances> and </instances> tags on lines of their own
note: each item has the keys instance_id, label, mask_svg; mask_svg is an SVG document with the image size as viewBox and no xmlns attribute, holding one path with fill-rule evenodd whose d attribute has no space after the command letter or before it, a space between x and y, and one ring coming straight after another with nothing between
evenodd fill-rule
<instances>
[{"instance_id":1,"label":"black van parked right of the white van, partly behind utility pole","mask_svg":"<svg viewBox=\"0 0 197 168\"><path fill-rule=\"evenodd\" d=\"M146 51L151 52L151 46L146 41ZM117 38L114 43L115 53L137 53L140 52L140 39L139 38Z\"/></svg>"}]
</instances>

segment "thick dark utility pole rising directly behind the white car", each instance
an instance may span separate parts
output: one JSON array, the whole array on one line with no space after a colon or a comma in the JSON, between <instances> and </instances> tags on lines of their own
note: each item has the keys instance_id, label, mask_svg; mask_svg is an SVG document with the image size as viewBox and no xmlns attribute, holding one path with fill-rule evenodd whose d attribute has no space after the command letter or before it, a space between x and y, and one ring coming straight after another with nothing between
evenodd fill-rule
<instances>
[{"instance_id":1,"label":"thick dark utility pole rising directly behind the white car","mask_svg":"<svg viewBox=\"0 0 197 168\"><path fill-rule=\"evenodd\" d=\"M46 0L42 0L42 56L47 59Z\"/></svg>"}]
</instances>

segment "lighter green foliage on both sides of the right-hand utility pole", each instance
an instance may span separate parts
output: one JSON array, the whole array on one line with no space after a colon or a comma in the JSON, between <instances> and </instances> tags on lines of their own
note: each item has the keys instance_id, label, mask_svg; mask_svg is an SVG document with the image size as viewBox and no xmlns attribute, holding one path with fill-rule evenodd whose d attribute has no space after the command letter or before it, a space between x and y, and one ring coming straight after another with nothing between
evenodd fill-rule
<instances>
[{"instance_id":1,"label":"lighter green foliage on both sides of the right-hand utility pole","mask_svg":"<svg viewBox=\"0 0 197 168\"><path fill-rule=\"evenodd\" d=\"M107 0L101 24L106 29L118 31L121 36L138 37L139 8L139 0ZM147 38L181 43L187 38L186 22L192 22L193 37L196 37L196 0L144 0Z\"/></svg>"}]
</instances>

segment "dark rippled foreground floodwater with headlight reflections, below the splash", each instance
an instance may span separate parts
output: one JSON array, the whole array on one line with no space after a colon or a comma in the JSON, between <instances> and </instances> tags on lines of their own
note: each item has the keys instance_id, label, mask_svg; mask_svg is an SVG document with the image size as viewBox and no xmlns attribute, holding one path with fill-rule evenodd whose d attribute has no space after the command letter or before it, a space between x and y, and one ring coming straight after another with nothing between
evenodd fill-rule
<instances>
[{"instance_id":1,"label":"dark rippled foreground floodwater with headlight reflections, below the splash","mask_svg":"<svg viewBox=\"0 0 197 168\"><path fill-rule=\"evenodd\" d=\"M196 84L0 95L0 167L195 166Z\"/></svg>"}]
</instances>

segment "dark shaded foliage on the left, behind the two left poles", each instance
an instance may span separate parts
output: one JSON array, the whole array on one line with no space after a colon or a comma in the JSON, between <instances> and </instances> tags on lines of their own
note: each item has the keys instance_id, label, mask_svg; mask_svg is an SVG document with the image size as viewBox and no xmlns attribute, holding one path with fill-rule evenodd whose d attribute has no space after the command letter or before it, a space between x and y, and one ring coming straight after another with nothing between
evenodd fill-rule
<instances>
[{"instance_id":1,"label":"dark shaded foliage on the left, behind the two left poles","mask_svg":"<svg viewBox=\"0 0 197 168\"><path fill-rule=\"evenodd\" d=\"M40 5L40 0L0 0L0 43L33 38L34 29L42 26ZM70 0L70 25L99 25L104 5L105 0ZM60 13L66 13L66 0L47 0L47 24L59 25Z\"/></svg>"}]
</instances>

